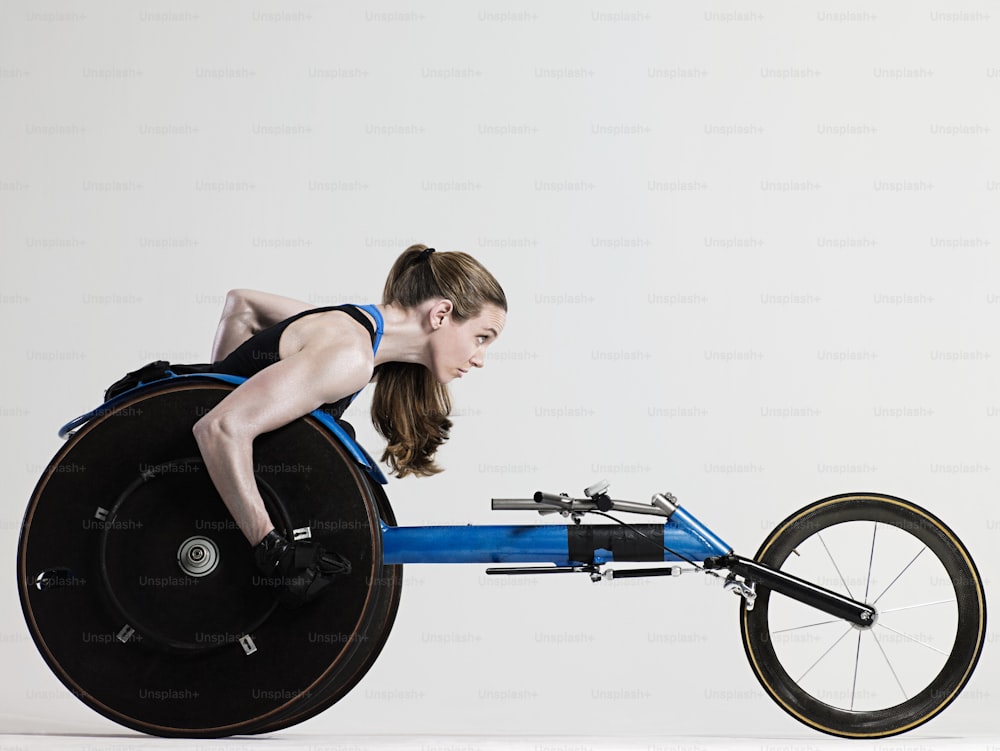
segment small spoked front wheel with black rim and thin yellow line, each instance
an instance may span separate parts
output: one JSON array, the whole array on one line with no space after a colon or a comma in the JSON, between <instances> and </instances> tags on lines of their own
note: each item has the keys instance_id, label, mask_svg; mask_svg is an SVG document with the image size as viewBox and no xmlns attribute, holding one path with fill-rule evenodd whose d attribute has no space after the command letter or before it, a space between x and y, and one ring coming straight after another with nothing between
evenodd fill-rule
<instances>
[{"instance_id":1,"label":"small spoked front wheel with black rim and thin yellow line","mask_svg":"<svg viewBox=\"0 0 1000 751\"><path fill-rule=\"evenodd\" d=\"M817 501L779 524L755 560L874 606L858 628L761 589L740 630L764 690L800 722L846 738L911 730L948 706L976 666L986 598L943 522L892 496Z\"/></svg>"}]
</instances>

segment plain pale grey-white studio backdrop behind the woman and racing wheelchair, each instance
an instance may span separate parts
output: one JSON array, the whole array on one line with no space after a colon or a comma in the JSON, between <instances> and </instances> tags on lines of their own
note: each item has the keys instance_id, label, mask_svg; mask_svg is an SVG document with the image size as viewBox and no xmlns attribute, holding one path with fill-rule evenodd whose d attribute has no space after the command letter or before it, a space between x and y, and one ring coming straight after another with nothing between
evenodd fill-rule
<instances>
[{"instance_id":1,"label":"plain pale grey-white studio backdrop behind the woman and racing wheelchair","mask_svg":"<svg viewBox=\"0 0 1000 751\"><path fill-rule=\"evenodd\" d=\"M400 523L533 523L490 497L606 477L749 555L806 502L878 490L994 585L997 23L975 1L5 2L4 727L115 729L17 607L57 427L139 364L206 360L228 289L376 301L413 242L473 253L511 307L453 389L448 471L391 482ZM919 737L997 730L996 640ZM717 586L480 566L409 567L383 655L305 727L799 732Z\"/></svg>"}]
</instances>

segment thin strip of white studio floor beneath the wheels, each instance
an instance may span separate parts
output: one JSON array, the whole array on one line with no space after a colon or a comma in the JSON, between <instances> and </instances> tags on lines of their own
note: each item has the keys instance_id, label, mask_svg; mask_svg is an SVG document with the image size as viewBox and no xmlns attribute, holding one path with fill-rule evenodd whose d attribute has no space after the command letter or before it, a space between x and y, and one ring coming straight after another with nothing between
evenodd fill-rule
<instances>
[{"instance_id":1,"label":"thin strip of white studio floor beneath the wheels","mask_svg":"<svg viewBox=\"0 0 1000 751\"><path fill-rule=\"evenodd\" d=\"M59 733L0 735L0 751L131 751L132 749L185 751L1000 751L1000 736L949 738L912 735L881 741L847 741L824 736L730 738L724 736L479 736L479 735L309 735L282 732L263 737L191 740L152 738L127 732L107 735Z\"/></svg>"}]
</instances>

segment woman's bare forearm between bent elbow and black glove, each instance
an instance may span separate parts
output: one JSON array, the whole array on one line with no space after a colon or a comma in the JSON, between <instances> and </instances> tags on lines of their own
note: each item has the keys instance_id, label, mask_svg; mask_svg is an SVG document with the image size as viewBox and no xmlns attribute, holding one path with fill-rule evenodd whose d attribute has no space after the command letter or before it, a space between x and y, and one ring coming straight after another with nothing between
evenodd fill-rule
<instances>
[{"instance_id":1,"label":"woman's bare forearm between bent elbow and black glove","mask_svg":"<svg viewBox=\"0 0 1000 751\"><path fill-rule=\"evenodd\" d=\"M196 427L194 435L223 503L247 541L256 545L274 529L274 523L254 479L252 441L240 441L211 428Z\"/></svg>"}]
</instances>

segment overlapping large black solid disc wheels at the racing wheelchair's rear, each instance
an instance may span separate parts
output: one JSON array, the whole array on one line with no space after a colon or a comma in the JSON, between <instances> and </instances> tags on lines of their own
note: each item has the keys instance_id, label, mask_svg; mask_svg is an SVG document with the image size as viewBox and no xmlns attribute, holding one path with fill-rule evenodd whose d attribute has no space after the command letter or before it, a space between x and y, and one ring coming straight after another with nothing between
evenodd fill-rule
<instances>
[{"instance_id":1,"label":"overlapping large black solid disc wheels at the racing wheelchair's rear","mask_svg":"<svg viewBox=\"0 0 1000 751\"><path fill-rule=\"evenodd\" d=\"M221 737L312 716L361 679L396 612L388 502L309 416L258 437L257 484L286 533L308 529L352 571L299 609L276 604L191 433L232 388L185 379L94 418L25 513L18 589L36 646L81 701L145 733Z\"/></svg>"}]
</instances>

